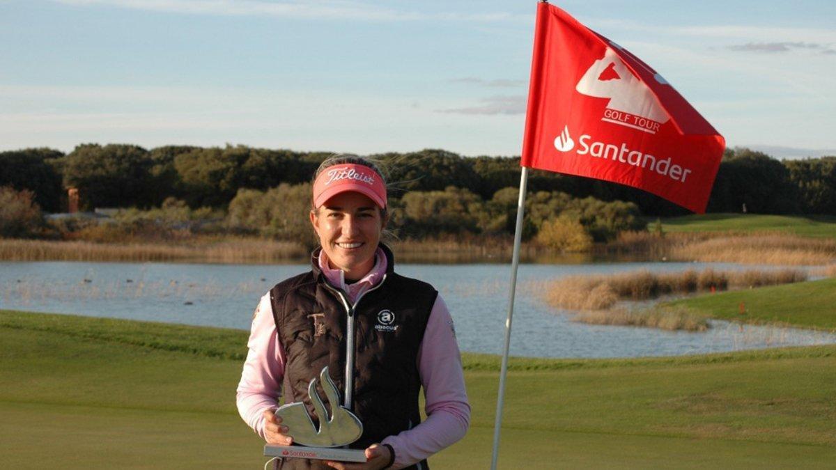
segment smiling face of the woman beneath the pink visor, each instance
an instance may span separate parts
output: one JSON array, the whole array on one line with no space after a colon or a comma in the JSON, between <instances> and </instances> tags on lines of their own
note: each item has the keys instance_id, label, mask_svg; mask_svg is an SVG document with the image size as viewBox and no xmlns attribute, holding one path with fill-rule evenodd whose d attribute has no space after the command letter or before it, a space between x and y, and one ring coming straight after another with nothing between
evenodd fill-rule
<instances>
[{"instance_id":1,"label":"smiling face of the woman beneath the pink visor","mask_svg":"<svg viewBox=\"0 0 836 470\"><path fill-rule=\"evenodd\" d=\"M380 207L359 192L341 192L317 209L310 219L331 267L355 280L369 273L386 224Z\"/></svg>"}]
</instances>

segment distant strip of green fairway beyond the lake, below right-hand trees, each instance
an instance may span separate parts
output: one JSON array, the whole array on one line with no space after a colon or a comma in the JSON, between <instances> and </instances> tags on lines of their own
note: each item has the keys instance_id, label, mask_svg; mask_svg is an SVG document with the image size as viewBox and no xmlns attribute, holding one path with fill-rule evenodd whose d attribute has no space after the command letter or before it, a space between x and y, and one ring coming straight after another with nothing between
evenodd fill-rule
<instances>
[{"instance_id":1,"label":"distant strip of green fairway beyond the lake, below right-hand trees","mask_svg":"<svg viewBox=\"0 0 836 470\"><path fill-rule=\"evenodd\" d=\"M649 227L653 226L650 222ZM788 232L803 237L836 238L836 217L714 213L670 217L663 232Z\"/></svg>"}]
</instances>

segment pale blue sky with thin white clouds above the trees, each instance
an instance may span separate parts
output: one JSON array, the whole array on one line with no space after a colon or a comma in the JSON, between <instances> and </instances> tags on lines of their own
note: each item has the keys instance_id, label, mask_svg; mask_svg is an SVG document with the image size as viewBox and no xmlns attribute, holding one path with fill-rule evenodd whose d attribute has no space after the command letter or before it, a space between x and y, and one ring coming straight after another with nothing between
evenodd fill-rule
<instances>
[{"instance_id":1,"label":"pale blue sky with thin white clouds above the trees","mask_svg":"<svg viewBox=\"0 0 836 470\"><path fill-rule=\"evenodd\" d=\"M726 137L836 155L833 0L554 3ZM0 0L0 150L519 155L537 2Z\"/></svg>"}]
</instances>

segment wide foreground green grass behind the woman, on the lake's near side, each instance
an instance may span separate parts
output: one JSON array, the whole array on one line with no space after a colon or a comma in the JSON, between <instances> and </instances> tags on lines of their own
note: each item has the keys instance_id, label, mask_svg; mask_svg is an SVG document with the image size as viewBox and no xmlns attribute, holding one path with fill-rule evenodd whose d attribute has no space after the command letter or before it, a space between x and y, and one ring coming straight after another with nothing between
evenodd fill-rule
<instances>
[{"instance_id":1,"label":"wide foreground green grass behind the woman, on the lake's near side","mask_svg":"<svg viewBox=\"0 0 836 470\"><path fill-rule=\"evenodd\" d=\"M247 333L0 311L4 467L255 468L234 390ZM490 462L499 358L465 355L467 437ZM836 346L627 360L515 359L503 468L828 467ZM45 450L48 448L48 451Z\"/></svg>"}]
</instances>

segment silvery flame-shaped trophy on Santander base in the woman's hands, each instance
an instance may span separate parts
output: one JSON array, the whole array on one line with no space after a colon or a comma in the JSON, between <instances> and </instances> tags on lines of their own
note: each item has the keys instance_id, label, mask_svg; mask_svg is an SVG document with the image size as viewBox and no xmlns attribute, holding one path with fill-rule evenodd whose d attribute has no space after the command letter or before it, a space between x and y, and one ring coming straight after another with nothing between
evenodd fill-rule
<instances>
[{"instance_id":1,"label":"silvery flame-shaped trophy on Santander base in the woman's hands","mask_svg":"<svg viewBox=\"0 0 836 470\"><path fill-rule=\"evenodd\" d=\"M319 383L328 397L330 413L316 391ZM319 427L308 415L308 409L302 402L279 406L276 416L282 418L282 426L288 427L288 436L293 437L293 444L280 446L266 444L264 455L282 458L310 458L343 462L365 462L364 449L341 448L359 439L363 434L363 423L344 406L339 405L339 392L328 374L328 366L308 384L308 396L319 417Z\"/></svg>"}]
</instances>

